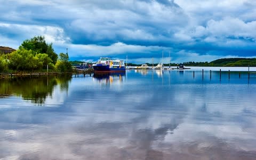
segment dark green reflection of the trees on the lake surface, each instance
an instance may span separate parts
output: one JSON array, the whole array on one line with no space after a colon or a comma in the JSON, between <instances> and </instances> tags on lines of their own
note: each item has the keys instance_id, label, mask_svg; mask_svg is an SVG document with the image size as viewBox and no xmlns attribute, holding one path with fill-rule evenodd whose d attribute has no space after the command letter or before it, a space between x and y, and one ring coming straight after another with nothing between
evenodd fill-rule
<instances>
[{"instance_id":1,"label":"dark green reflection of the trees on the lake surface","mask_svg":"<svg viewBox=\"0 0 256 160\"><path fill-rule=\"evenodd\" d=\"M0 81L0 98L12 95L21 96L32 103L43 104L47 97L52 97L54 86L60 85L61 91L68 91L70 75L44 78L13 78Z\"/></svg>"}]
</instances>

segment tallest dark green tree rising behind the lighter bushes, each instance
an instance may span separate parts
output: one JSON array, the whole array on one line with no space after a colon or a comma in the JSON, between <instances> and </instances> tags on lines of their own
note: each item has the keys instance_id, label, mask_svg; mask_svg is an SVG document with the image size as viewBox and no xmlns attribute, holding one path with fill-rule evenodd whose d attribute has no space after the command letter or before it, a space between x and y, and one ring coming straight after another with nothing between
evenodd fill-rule
<instances>
[{"instance_id":1,"label":"tallest dark green tree rising behind the lighter bushes","mask_svg":"<svg viewBox=\"0 0 256 160\"><path fill-rule=\"evenodd\" d=\"M19 49L32 50L34 51L34 55L36 53L46 53L49 58L51 58L53 64L55 64L58 59L58 54L54 52L52 43L47 44L44 36L35 36L34 38L26 39L20 45Z\"/></svg>"}]
</instances>

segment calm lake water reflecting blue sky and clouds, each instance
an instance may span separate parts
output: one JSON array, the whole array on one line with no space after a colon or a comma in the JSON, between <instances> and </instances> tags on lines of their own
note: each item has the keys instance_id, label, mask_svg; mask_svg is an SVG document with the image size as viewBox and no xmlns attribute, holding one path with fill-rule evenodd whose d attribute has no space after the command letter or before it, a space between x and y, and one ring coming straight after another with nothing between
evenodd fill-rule
<instances>
[{"instance_id":1,"label":"calm lake water reflecting blue sky and clouds","mask_svg":"<svg viewBox=\"0 0 256 160\"><path fill-rule=\"evenodd\" d=\"M0 80L0 159L256 159L256 74Z\"/></svg>"}]
</instances>

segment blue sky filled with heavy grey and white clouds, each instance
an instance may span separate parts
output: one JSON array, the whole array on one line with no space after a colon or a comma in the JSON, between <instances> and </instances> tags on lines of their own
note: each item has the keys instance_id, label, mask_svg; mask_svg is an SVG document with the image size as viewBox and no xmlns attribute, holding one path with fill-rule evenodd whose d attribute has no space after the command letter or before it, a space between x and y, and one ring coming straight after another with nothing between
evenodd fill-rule
<instances>
[{"instance_id":1,"label":"blue sky filled with heavy grey and white clouds","mask_svg":"<svg viewBox=\"0 0 256 160\"><path fill-rule=\"evenodd\" d=\"M45 36L70 60L256 57L255 0L0 0L0 46ZM164 53L164 59L162 59ZM169 57L170 55L170 57Z\"/></svg>"}]
</instances>

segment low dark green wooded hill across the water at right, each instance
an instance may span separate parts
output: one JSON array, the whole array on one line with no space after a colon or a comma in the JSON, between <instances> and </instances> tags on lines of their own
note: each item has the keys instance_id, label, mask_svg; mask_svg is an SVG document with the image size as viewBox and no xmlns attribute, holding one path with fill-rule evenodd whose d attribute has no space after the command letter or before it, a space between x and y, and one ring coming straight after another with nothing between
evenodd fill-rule
<instances>
[{"instance_id":1,"label":"low dark green wooded hill across the water at right","mask_svg":"<svg viewBox=\"0 0 256 160\"><path fill-rule=\"evenodd\" d=\"M256 58L223 58L209 62L186 62L187 66L256 67Z\"/></svg>"}]
</instances>

